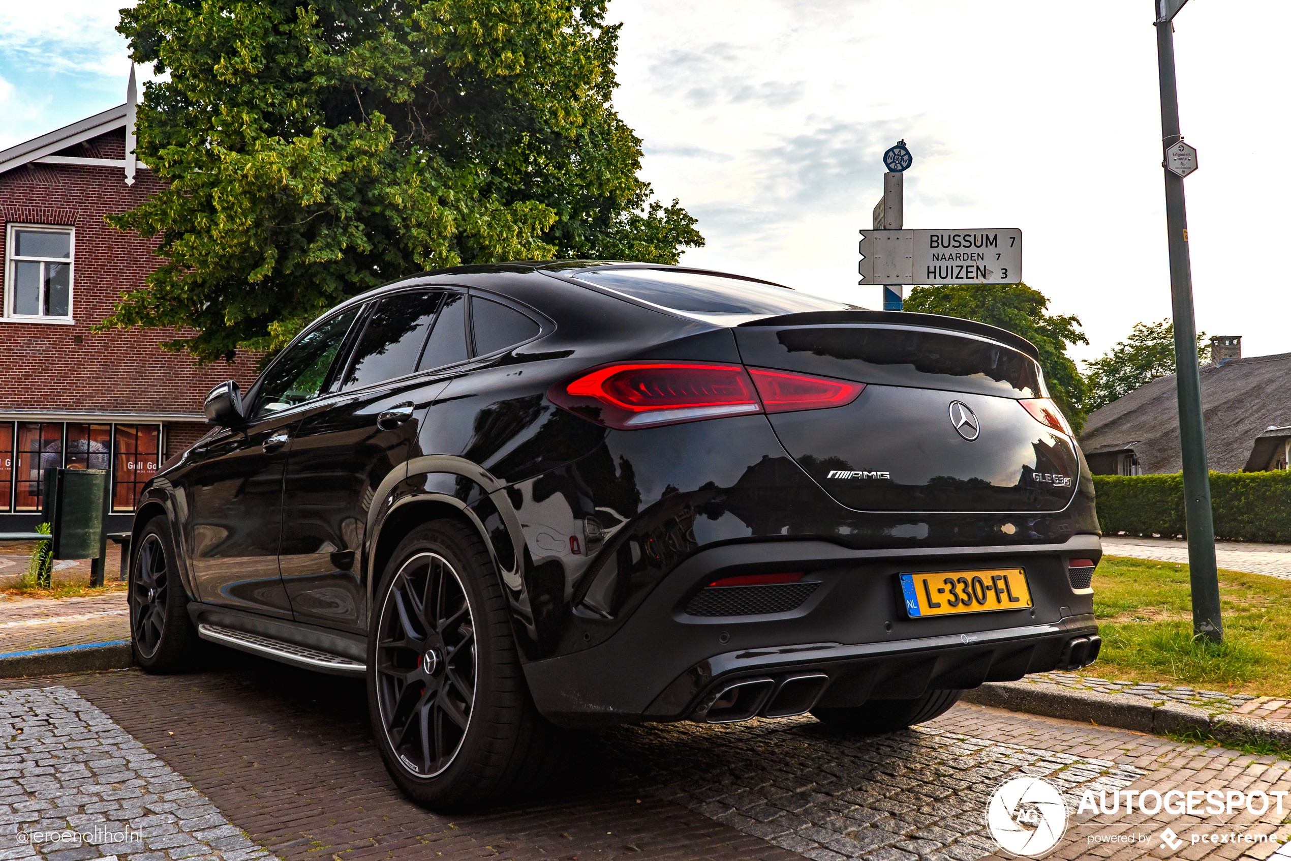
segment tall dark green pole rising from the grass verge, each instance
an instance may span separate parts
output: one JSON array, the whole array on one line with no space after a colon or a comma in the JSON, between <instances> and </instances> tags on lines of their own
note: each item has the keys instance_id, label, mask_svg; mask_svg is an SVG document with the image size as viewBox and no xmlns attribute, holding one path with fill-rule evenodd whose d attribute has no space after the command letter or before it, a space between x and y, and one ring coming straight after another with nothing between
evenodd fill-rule
<instances>
[{"instance_id":1,"label":"tall dark green pole rising from the grass verge","mask_svg":"<svg viewBox=\"0 0 1291 861\"><path fill-rule=\"evenodd\" d=\"M1186 0L1184 0L1186 1ZM1162 152L1179 145L1179 94L1175 83L1175 37L1171 19L1184 4L1153 0L1157 26L1157 66L1161 76ZM1162 163L1166 167L1166 163ZM1175 381L1179 391L1179 439L1184 456L1184 514L1188 523L1188 565L1193 593L1193 635L1211 643L1224 639L1220 621L1219 572L1215 565L1215 524L1211 515L1202 385L1197 365L1197 323L1193 319L1193 275L1188 256L1188 214L1184 178L1166 174L1166 230L1170 244L1170 294L1175 323Z\"/></svg>"}]
</instances>

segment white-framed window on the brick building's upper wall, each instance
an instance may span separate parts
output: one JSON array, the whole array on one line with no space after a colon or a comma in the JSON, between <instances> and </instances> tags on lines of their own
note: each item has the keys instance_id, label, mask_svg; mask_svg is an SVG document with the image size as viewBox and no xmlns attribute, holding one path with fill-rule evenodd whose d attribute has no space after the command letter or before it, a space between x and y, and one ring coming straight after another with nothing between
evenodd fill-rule
<instances>
[{"instance_id":1,"label":"white-framed window on the brick building's upper wall","mask_svg":"<svg viewBox=\"0 0 1291 861\"><path fill-rule=\"evenodd\" d=\"M9 225L5 236L5 316L71 321L74 231Z\"/></svg>"}]
</instances>

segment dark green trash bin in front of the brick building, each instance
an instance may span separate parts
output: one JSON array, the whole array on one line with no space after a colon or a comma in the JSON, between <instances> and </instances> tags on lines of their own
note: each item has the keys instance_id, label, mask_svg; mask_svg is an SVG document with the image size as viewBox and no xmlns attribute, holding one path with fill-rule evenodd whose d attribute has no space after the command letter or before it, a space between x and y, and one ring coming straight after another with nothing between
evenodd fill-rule
<instances>
[{"instance_id":1,"label":"dark green trash bin in front of the brick building","mask_svg":"<svg viewBox=\"0 0 1291 861\"><path fill-rule=\"evenodd\" d=\"M107 558L107 470L46 467L41 515L54 559L92 559L90 586L103 585Z\"/></svg>"}]
</instances>

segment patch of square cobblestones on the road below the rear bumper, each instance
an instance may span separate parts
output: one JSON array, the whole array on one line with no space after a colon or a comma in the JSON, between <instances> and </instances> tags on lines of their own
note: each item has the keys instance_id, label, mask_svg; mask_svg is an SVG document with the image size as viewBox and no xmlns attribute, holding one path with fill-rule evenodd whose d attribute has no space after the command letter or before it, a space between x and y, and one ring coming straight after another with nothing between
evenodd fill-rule
<instances>
[{"instance_id":1,"label":"patch of square cobblestones on the road below the rear bumper","mask_svg":"<svg viewBox=\"0 0 1291 861\"><path fill-rule=\"evenodd\" d=\"M1075 809L1083 790L1124 789L1144 773L940 728L831 736L813 718L613 734L616 750L634 754L622 780L817 861L971 861L995 849L984 812L1004 780L1048 778Z\"/></svg>"}]
</instances>

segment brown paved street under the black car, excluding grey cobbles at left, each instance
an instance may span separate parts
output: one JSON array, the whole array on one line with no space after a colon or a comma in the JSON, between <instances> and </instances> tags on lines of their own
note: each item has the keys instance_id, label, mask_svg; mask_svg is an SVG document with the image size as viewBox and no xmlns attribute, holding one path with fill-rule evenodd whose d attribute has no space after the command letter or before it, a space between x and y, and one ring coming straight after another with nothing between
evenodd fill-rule
<instances>
[{"instance_id":1,"label":"brown paved street under the black car, excluding grey cobbles at left","mask_svg":"<svg viewBox=\"0 0 1291 861\"><path fill-rule=\"evenodd\" d=\"M361 682L223 651L217 661L219 671L186 676L125 670L58 683L102 709L284 861L970 861L994 848L982 835L984 808L994 786L1012 776L1046 776L1095 794L1127 784L1162 793L1291 789L1291 763L1273 758L959 705L924 727L869 740L833 734L809 718L605 729L585 737L572 773L541 799L436 816L391 786L369 736ZM1205 821L1084 812L1073 817L1057 857L1265 857L1276 844L1190 838L1220 827L1265 835L1277 829L1285 838L1285 817L1272 809ZM1167 825L1186 848L1159 848ZM1143 840L1090 842L1135 833Z\"/></svg>"}]
</instances>

